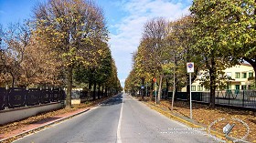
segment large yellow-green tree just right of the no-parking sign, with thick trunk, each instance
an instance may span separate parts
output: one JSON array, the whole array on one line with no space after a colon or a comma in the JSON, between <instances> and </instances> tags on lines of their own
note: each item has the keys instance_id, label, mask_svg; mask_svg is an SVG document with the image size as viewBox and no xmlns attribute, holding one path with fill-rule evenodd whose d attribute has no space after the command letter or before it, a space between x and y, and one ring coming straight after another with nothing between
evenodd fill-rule
<instances>
[{"instance_id":1,"label":"large yellow-green tree just right of the no-parking sign, with thick trunk","mask_svg":"<svg viewBox=\"0 0 256 143\"><path fill-rule=\"evenodd\" d=\"M226 1L227 2L227 1ZM229 45L223 45L223 31L225 25L221 14L221 7L226 2L220 0L195 0L190 10L195 19L194 38L197 40L193 46L197 54L202 57L205 69L204 82L210 89L210 107L215 106L215 91L218 84L219 74L225 68L237 63L232 57ZM230 1L229 1L230 2ZM232 3L232 2L230 2ZM225 5L224 5L225 4ZM223 5L223 6L220 6Z\"/></svg>"}]
</instances>

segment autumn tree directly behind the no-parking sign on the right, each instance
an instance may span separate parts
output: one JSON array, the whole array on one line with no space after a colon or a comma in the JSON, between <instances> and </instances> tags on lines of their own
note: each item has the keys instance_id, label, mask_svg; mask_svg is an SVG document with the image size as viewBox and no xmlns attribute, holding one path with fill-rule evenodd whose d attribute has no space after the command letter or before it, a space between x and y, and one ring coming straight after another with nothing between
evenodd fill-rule
<instances>
[{"instance_id":1,"label":"autumn tree directly behind the no-parking sign on the right","mask_svg":"<svg viewBox=\"0 0 256 143\"><path fill-rule=\"evenodd\" d=\"M187 101L189 101L189 75L187 74L187 62L194 62L195 72L192 73L191 82L197 78L200 66L203 65L202 57L193 48L196 40L193 35L194 19L191 15L184 16L169 24L169 35L166 37L169 57L175 63L171 68L176 69L176 89L187 86ZM174 61L174 62L173 62ZM172 72L172 70L170 71ZM173 73L173 72L172 72ZM174 87L175 88L175 87Z\"/></svg>"}]
</instances>

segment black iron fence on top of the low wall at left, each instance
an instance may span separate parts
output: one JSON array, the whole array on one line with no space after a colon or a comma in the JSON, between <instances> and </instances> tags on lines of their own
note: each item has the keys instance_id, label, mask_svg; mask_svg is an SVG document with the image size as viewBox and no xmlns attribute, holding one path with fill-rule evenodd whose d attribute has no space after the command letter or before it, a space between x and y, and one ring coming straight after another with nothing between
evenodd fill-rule
<instances>
[{"instance_id":1,"label":"black iron fence on top of the low wall at left","mask_svg":"<svg viewBox=\"0 0 256 143\"><path fill-rule=\"evenodd\" d=\"M65 95L62 89L0 87L0 109L60 102L65 99Z\"/></svg>"}]
</instances>

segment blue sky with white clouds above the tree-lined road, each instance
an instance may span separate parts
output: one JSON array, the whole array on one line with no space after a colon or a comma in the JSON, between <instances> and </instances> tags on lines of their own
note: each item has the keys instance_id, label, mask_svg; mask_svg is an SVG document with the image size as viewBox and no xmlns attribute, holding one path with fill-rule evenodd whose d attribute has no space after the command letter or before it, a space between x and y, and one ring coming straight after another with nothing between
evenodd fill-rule
<instances>
[{"instance_id":1,"label":"blue sky with white clouds above the tree-lined road","mask_svg":"<svg viewBox=\"0 0 256 143\"><path fill-rule=\"evenodd\" d=\"M0 24L31 18L37 2L47 0L0 0ZM139 46L144 23L153 17L169 21L188 15L192 0L95 0L105 14L110 31L109 44L122 86L132 69L132 54Z\"/></svg>"}]
</instances>

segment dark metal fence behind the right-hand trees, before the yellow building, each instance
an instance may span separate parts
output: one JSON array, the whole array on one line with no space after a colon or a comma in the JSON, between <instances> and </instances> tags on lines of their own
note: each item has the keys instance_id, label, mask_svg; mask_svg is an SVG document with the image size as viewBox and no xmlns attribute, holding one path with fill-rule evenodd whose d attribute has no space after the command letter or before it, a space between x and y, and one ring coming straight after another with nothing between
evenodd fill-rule
<instances>
[{"instance_id":1,"label":"dark metal fence behind the right-hand trees, before the yellow building","mask_svg":"<svg viewBox=\"0 0 256 143\"><path fill-rule=\"evenodd\" d=\"M192 101L209 103L209 92L192 92ZM172 92L168 93L168 98ZM176 99L187 100L187 92L176 92ZM231 107L256 108L256 90L225 90L216 91L215 104Z\"/></svg>"}]
</instances>

